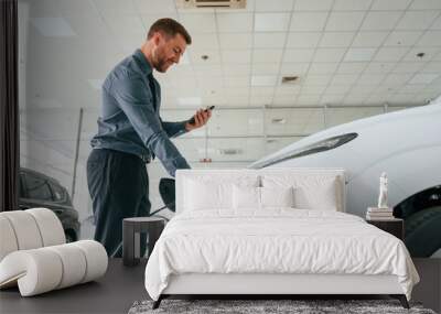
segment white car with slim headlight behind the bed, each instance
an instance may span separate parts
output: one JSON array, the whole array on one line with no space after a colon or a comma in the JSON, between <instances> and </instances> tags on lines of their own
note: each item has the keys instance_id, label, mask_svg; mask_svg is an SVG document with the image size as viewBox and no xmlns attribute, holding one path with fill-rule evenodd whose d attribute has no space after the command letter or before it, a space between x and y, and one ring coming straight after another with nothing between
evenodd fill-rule
<instances>
[{"instance_id":1,"label":"white car with slim headlight behind the bed","mask_svg":"<svg viewBox=\"0 0 441 314\"><path fill-rule=\"evenodd\" d=\"M432 105L326 129L249 167L342 167L346 212L364 217L376 206L379 176L388 176L388 205L405 219L412 256L441 253L441 97Z\"/></svg>"}]
</instances>

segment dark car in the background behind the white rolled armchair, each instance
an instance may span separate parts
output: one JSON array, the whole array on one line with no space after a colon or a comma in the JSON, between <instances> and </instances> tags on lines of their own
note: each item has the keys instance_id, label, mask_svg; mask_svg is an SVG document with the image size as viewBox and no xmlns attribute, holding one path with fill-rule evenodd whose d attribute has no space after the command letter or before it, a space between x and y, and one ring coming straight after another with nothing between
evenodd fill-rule
<instances>
[{"instance_id":1,"label":"dark car in the background behind the white rolled armchair","mask_svg":"<svg viewBox=\"0 0 441 314\"><path fill-rule=\"evenodd\" d=\"M78 212L72 206L71 196L58 181L40 172L20 169L20 209L49 208L62 221L66 241L79 239Z\"/></svg>"}]
</instances>

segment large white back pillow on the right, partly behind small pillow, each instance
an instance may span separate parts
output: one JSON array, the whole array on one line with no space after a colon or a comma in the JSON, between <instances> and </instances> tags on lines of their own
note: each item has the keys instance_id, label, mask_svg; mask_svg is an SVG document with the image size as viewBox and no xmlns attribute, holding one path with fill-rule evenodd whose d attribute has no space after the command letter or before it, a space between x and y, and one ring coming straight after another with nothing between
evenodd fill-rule
<instances>
[{"instance_id":1,"label":"large white back pillow on the right, partly behind small pillow","mask_svg":"<svg viewBox=\"0 0 441 314\"><path fill-rule=\"evenodd\" d=\"M265 187L294 187L294 207L301 209L337 210L340 185L335 176L263 175Z\"/></svg>"}]
</instances>

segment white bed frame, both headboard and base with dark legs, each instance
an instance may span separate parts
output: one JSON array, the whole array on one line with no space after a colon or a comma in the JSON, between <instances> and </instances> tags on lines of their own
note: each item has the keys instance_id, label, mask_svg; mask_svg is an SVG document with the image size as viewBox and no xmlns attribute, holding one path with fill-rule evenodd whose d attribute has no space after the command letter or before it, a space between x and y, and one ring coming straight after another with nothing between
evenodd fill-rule
<instances>
[{"instance_id":1,"label":"white bed frame, both headboard and base with dark legs","mask_svg":"<svg viewBox=\"0 0 441 314\"><path fill-rule=\"evenodd\" d=\"M212 174L232 175L239 172L249 173L286 173L287 169L268 170L179 170L176 172L176 213L184 210L184 184L193 175ZM337 178L340 196L338 212L345 212L345 173L342 169L290 169L290 173L299 174L332 174ZM260 299L289 295L378 295L386 294L398 299L405 308L409 308L407 297L398 283L396 275L367 274L280 274L280 273L186 273L173 274L169 285L153 308L158 308L161 301L171 295L256 295Z\"/></svg>"}]
</instances>

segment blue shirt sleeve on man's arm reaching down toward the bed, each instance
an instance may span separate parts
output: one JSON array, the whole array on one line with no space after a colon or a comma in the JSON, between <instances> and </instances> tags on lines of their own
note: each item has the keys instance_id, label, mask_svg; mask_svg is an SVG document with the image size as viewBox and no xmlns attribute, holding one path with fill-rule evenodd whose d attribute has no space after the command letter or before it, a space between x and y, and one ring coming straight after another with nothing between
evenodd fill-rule
<instances>
[{"instance_id":1,"label":"blue shirt sleeve on man's arm reaching down toward the bed","mask_svg":"<svg viewBox=\"0 0 441 314\"><path fill-rule=\"evenodd\" d=\"M154 112L152 94L142 77L122 76L114 80L110 88L142 142L159 158L170 175L174 176L178 169L190 169Z\"/></svg>"}]
</instances>

